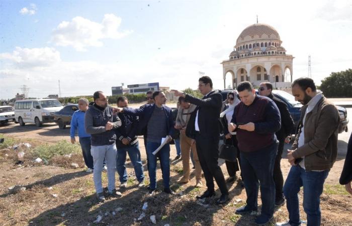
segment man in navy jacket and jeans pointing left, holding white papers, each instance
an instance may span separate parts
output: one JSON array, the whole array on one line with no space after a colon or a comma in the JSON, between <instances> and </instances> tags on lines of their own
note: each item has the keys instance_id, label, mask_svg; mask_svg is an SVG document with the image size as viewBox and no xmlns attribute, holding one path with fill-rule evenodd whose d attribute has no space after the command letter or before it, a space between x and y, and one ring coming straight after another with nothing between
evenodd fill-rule
<instances>
[{"instance_id":1,"label":"man in navy jacket and jeans pointing left, holding white papers","mask_svg":"<svg viewBox=\"0 0 352 226\"><path fill-rule=\"evenodd\" d=\"M174 194L169 187L170 181L170 146L166 144L161 150L153 155L152 153L161 145L161 139L168 137L171 140L173 135L173 119L171 108L165 104L167 98L162 91L153 93L155 103L145 104L141 108L115 108L118 112L139 117L139 131L146 128L147 131L147 157L149 171L149 194L152 195L156 189L156 157L160 158L164 192Z\"/></svg>"}]
</instances>

